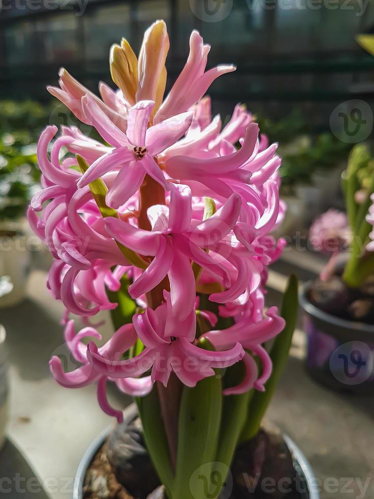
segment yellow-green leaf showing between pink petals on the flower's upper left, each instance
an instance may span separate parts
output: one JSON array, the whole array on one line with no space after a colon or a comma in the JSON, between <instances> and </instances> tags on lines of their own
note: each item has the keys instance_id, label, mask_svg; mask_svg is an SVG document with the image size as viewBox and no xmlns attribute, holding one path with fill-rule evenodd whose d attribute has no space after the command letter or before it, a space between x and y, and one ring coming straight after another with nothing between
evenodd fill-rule
<instances>
[{"instance_id":1,"label":"yellow-green leaf showing between pink petals on the flower's upper left","mask_svg":"<svg viewBox=\"0 0 374 499\"><path fill-rule=\"evenodd\" d=\"M88 162L79 154L76 154L76 158L79 164L79 168L84 173L86 170L89 168ZM113 216L114 218L118 218L118 213L116 210L113 210L113 208L109 208L105 202L105 196L108 191L108 188L106 187L105 183L101 178L98 178L91 182L90 184L90 190L92 193L92 196L94 200L96 201L97 206L99 207L100 213L103 218L107 216ZM140 255L135 253L134 251L130 250L120 242L116 241L118 247L120 248L121 252L123 255L127 258L127 260L132 264L135 265L135 267L146 269L148 267L147 262L145 262Z\"/></svg>"}]
</instances>

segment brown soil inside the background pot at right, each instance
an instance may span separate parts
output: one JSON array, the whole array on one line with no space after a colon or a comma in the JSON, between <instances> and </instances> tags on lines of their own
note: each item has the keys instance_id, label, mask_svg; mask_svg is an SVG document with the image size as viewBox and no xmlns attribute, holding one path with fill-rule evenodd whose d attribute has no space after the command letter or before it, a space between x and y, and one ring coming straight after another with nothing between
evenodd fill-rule
<instances>
[{"instance_id":1,"label":"brown soil inside the background pot at right","mask_svg":"<svg viewBox=\"0 0 374 499\"><path fill-rule=\"evenodd\" d=\"M335 317L374 324L374 276L359 288L349 288L339 276L315 280L308 292L310 302Z\"/></svg>"}]
</instances>

